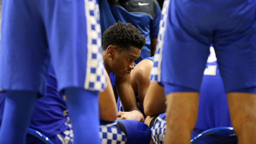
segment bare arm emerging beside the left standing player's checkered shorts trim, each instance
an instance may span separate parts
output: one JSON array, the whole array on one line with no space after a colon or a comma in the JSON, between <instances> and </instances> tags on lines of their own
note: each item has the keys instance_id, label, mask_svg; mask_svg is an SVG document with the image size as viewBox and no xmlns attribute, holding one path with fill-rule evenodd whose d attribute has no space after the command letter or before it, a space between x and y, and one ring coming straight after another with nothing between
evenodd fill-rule
<instances>
[{"instance_id":1,"label":"bare arm emerging beside the left standing player's checkered shorts trim","mask_svg":"<svg viewBox=\"0 0 256 144\"><path fill-rule=\"evenodd\" d=\"M110 79L105 71L107 86L105 91L99 94L99 119L102 121L113 122L117 117L117 108L114 92Z\"/></svg>"}]
</instances>

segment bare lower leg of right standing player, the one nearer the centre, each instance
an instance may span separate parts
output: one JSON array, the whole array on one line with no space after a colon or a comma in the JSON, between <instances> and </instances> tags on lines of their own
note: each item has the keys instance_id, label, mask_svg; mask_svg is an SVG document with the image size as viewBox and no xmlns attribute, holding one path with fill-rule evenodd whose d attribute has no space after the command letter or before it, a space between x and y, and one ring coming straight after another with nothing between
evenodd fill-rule
<instances>
[{"instance_id":1,"label":"bare lower leg of right standing player, the one nearer the centre","mask_svg":"<svg viewBox=\"0 0 256 144\"><path fill-rule=\"evenodd\" d=\"M166 99L164 144L189 144L197 118L199 93L170 93Z\"/></svg>"}]
</instances>

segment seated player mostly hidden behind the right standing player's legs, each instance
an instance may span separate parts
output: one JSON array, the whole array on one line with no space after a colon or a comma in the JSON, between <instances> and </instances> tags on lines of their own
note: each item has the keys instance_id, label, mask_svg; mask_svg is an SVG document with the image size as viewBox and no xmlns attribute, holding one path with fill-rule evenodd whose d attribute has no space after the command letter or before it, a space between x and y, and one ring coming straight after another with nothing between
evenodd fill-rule
<instances>
[{"instance_id":1,"label":"seated player mostly hidden behind the right standing player's legs","mask_svg":"<svg viewBox=\"0 0 256 144\"><path fill-rule=\"evenodd\" d=\"M204 70L201 84L197 122L191 135L191 139L199 133L215 127L232 127L226 94L219 74L213 47L210 48L210 56ZM144 100L145 124L151 128L152 141L162 144L166 131L165 96L163 87L157 82L152 82ZM157 115L157 116L155 116ZM174 130L173 130L174 131ZM151 141L151 144L153 142ZM237 144L236 136L230 134L218 134L206 137L197 144Z\"/></svg>"}]
</instances>

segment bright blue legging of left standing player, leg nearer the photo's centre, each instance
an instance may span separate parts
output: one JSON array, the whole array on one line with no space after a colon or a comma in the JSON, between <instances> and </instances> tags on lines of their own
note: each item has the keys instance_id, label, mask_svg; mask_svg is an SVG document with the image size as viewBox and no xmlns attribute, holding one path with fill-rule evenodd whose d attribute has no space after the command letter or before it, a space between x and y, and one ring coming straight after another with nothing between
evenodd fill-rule
<instances>
[{"instance_id":1,"label":"bright blue legging of left standing player, leg nearer the photo's centre","mask_svg":"<svg viewBox=\"0 0 256 144\"><path fill-rule=\"evenodd\" d=\"M100 144L98 93L81 88L65 89L74 144Z\"/></svg>"}]
</instances>

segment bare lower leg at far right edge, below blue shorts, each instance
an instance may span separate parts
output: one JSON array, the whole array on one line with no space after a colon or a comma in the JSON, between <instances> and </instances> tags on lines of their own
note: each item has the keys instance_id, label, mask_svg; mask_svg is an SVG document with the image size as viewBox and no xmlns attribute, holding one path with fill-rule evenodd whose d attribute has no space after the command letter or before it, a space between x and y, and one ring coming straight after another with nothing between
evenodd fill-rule
<instances>
[{"instance_id":1,"label":"bare lower leg at far right edge, below blue shorts","mask_svg":"<svg viewBox=\"0 0 256 144\"><path fill-rule=\"evenodd\" d=\"M256 94L227 93L231 124L238 144L255 144Z\"/></svg>"}]
</instances>

